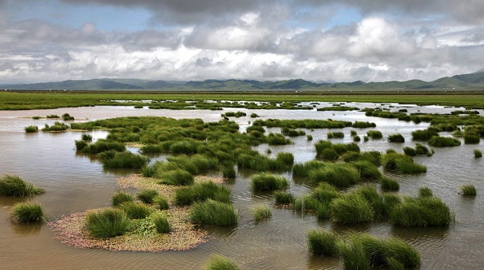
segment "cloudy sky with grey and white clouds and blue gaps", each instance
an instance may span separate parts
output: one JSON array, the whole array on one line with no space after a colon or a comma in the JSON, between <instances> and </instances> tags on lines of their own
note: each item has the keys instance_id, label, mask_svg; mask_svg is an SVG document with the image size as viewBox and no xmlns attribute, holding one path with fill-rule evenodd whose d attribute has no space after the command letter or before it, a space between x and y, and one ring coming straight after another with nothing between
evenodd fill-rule
<instances>
[{"instance_id":1,"label":"cloudy sky with grey and white clouds and blue gaps","mask_svg":"<svg viewBox=\"0 0 484 270\"><path fill-rule=\"evenodd\" d=\"M0 0L0 83L435 80L484 68L482 0Z\"/></svg>"}]
</instances>

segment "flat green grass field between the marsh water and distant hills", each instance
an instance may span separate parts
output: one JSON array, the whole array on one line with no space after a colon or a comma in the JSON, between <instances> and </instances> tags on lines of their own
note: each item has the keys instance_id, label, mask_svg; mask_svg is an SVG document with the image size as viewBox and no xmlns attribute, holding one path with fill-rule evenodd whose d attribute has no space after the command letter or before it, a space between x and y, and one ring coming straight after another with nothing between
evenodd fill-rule
<instances>
[{"instance_id":1,"label":"flat green grass field between the marsh water and distant hills","mask_svg":"<svg viewBox=\"0 0 484 270\"><path fill-rule=\"evenodd\" d=\"M32 110L79 106L136 106L141 100L335 101L374 102L484 108L484 93L121 93L121 92L0 92L0 110ZM112 100L128 100L119 103Z\"/></svg>"}]
</instances>

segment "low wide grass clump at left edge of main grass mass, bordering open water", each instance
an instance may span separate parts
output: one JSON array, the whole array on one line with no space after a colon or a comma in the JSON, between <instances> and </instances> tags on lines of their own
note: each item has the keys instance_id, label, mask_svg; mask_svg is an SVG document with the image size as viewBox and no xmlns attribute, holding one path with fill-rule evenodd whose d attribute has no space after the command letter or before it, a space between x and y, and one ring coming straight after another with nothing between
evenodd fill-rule
<instances>
[{"instance_id":1,"label":"low wide grass clump at left edge of main grass mass, bordering open water","mask_svg":"<svg viewBox=\"0 0 484 270\"><path fill-rule=\"evenodd\" d=\"M109 169L140 169L146 166L149 158L132 152L110 150L99 154L102 166Z\"/></svg>"}]
</instances>

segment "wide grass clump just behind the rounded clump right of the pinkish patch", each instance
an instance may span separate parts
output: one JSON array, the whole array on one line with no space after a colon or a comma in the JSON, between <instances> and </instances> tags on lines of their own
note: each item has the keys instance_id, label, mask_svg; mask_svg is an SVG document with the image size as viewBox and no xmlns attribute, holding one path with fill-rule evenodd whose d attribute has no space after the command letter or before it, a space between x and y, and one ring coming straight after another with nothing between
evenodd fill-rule
<instances>
[{"instance_id":1,"label":"wide grass clump just behind the rounded clump right of the pinkish patch","mask_svg":"<svg viewBox=\"0 0 484 270\"><path fill-rule=\"evenodd\" d=\"M206 201L207 199L229 203L231 201L230 190L224 185L205 181L194 183L190 187L180 187L175 191L175 204L179 206L189 205L195 201Z\"/></svg>"}]
</instances>

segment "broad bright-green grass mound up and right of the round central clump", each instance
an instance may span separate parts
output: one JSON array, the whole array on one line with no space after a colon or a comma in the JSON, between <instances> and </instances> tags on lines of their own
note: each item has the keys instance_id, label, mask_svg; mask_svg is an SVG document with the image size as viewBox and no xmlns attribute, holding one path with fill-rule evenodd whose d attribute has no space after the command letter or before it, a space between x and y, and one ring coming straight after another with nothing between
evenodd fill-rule
<instances>
[{"instance_id":1,"label":"broad bright-green grass mound up and right of the round central clump","mask_svg":"<svg viewBox=\"0 0 484 270\"><path fill-rule=\"evenodd\" d=\"M336 187L349 187L360 179L358 169L351 164L329 163L322 168L309 171L309 179L314 182L327 182Z\"/></svg>"}]
</instances>

